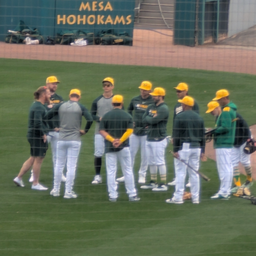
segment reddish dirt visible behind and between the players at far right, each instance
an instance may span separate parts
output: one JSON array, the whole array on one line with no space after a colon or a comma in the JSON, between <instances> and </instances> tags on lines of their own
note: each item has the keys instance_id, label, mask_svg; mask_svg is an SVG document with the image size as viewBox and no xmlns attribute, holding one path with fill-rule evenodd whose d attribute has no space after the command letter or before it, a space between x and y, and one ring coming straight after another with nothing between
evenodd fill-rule
<instances>
[{"instance_id":1,"label":"reddish dirt visible behind and between the players at far right","mask_svg":"<svg viewBox=\"0 0 256 256\"><path fill-rule=\"evenodd\" d=\"M253 138L256 138L256 125L250 126L250 129L252 131ZM206 143L205 155L206 155L206 157L216 161L215 150L213 149L213 141ZM256 153L251 154L251 165L252 165L252 170L253 170L253 179L256 179ZM244 168L241 164L239 166L239 169L240 169L241 173L246 175ZM216 169L216 171L217 171L217 169Z\"/></svg>"}]
</instances>

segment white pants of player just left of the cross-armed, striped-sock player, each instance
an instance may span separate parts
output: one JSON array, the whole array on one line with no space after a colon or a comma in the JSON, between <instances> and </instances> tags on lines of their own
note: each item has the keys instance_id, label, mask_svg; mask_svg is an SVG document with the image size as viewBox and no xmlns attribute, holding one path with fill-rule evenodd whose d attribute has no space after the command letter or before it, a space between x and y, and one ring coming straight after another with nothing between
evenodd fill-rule
<instances>
[{"instance_id":1,"label":"white pants of player just left of the cross-armed, striped-sock player","mask_svg":"<svg viewBox=\"0 0 256 256\"><path fill-rule=\"evenodd\" d=\"M129 137L132 168L134 166L134 160L138 152L138 149L139 147L141 147L141 167L139 170L139 176L142 177L146 177L147 174L146 140L147 135L137 136L135 134L131 134L131 136Z\"/></svg>"}]
</instances>

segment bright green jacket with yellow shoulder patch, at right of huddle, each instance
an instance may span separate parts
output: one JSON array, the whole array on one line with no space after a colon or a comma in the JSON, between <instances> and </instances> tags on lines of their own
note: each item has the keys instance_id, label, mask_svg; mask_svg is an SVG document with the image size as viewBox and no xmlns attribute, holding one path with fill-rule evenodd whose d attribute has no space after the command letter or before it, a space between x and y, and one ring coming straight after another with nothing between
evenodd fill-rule
<instances>
[{"instance_id":1,"label":"bright green jacket with yellow shoulder patch, at right of huddle","mask_svg":"<svg viewBox=\"0 0 256 256\"><path fill-rule=\"evenodd\" d=\"M216 122L216 130L213 134L214 148L232 148L235 140L235 129L237 117L237 106L233 102L229 102L223 107L221 115L218 116Z\"/></svg>"}]
</instances>

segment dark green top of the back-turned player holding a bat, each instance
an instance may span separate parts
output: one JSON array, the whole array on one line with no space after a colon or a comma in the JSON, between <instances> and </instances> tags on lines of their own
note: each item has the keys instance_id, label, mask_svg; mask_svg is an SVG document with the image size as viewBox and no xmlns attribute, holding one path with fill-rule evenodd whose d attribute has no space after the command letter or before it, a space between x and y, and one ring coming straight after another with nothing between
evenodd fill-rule
<instances>
[{"instance_id":1,"label":"dark green top of the back-turned player holding a bat","mask_svg":"<svg viewBox=\"0 0 256 256\"><path fill-rule=\"evenodd\" d=\"M182 150L183 143L189 143L190 148L200 147L205 153L204 120L192 110L180 113L174 120L173 152Z\"/></svg>"}]
</instances>

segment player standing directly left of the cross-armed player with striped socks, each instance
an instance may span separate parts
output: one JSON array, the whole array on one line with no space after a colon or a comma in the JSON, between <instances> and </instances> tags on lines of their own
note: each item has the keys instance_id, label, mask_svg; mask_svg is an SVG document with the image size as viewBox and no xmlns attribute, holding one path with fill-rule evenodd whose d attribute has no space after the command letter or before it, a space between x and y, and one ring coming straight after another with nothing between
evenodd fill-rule
<instances>
[{"instance_id":1,"label":"player standing directly left of the cross-armed player with striped socks","mask_svg":"<svg viewBox=\"0 0 256 256\"><path fill-rule=\"evenodd\" d=\"M145 113L148 105L153 103L151 93L152 84L149 81L143 81L139 87L141 94L131 99L128 106L128 113L133 115L134 130L131 134L130 141L130 152L131 152L131 166L134 166L134 159L138 152L139 147L141 147L141 167L139 170L139 183L145 183L147 174L147 157L146 157L146 129L142 124L142 116ZM116 179L117 182L124 182L125 177Z\"/></svg>"}]
</instances>

